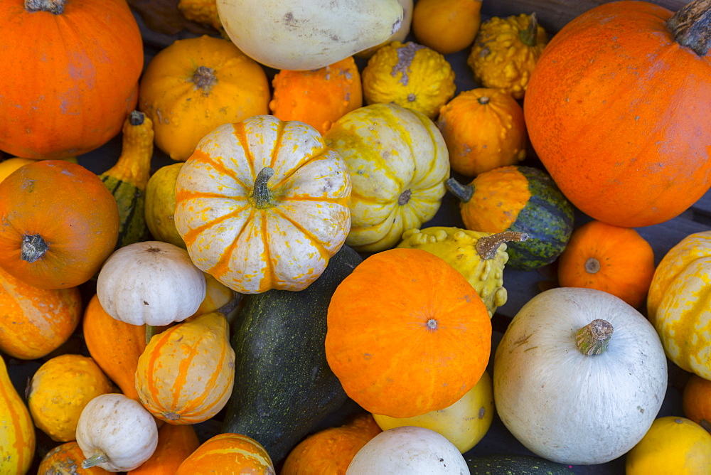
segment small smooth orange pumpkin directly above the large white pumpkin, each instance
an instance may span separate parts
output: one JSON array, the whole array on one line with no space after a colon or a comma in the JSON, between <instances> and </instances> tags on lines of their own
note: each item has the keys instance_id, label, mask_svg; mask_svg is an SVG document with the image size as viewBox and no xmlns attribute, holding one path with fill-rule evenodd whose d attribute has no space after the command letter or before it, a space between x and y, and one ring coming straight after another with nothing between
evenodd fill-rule
<instances>
[{"instance_id":1,"label":"small smooth orange pumpkin directly above the large white pumpkin","mask_svg":"<svg viewBox=\"0 0 711 475\"><path fill-rule=\"evenodd\" d=\"M558 259L558 283L603 290L637 308L654 269L654 251L636 230L592 220L570 236Z\"/></svg>"}]
</instances>

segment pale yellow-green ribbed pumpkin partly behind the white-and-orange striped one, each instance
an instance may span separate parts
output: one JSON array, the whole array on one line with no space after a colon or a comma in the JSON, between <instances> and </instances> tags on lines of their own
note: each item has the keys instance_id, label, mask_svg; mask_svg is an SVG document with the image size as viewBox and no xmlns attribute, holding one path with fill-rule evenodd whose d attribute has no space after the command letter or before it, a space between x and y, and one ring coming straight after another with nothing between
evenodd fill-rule
<instances>
[{"instance_id":1,"label":"pale yellow-green ribbed pumpkin partly behind the white-and-orange striped one","mask_svg":"<svg viewBox=\"0 0 711 475\"><path fill-rule=\"evenodd\" d=\"M395 246L434 218L449 176L447 144L424 114L395 104L360 107L324 134L353 180L346 244L359 252Z\"/></svg>"}]
</instances>

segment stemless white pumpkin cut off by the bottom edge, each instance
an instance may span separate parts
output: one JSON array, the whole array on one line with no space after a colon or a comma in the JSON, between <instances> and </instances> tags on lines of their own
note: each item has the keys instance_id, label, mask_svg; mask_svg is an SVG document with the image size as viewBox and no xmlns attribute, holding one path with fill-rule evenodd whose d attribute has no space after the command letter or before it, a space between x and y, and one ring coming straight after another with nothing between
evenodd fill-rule
<instances>
[{"instance_id":1,"label":"stemless white pumpkin cut off by the bottom edge","mask_svg":"<svg viewBox=\"0 0 711 475\"><path fill-rule=\"evenodd\" d=\"M387 429L355 454L346 475L469 474L464 457L447 437L424 427Z\"/></svg>"}]
</instances>

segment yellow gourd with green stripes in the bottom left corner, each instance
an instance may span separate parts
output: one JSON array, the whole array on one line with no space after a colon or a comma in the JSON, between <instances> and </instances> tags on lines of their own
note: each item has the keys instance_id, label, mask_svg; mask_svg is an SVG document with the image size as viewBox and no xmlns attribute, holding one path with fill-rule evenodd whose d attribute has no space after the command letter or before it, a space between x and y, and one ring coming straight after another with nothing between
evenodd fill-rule
<instances>
[{"instance_id":1,"label":"yellow gourd with green stripes in the bottom left corner","mask_svg":"<svg viewBox=\"0 0 711 475\"><path fill-rule=\"evenodd\" d=\"M0 473L26 474L35 454L35 426L0 356Z\"/></svg>"}]
</instances>

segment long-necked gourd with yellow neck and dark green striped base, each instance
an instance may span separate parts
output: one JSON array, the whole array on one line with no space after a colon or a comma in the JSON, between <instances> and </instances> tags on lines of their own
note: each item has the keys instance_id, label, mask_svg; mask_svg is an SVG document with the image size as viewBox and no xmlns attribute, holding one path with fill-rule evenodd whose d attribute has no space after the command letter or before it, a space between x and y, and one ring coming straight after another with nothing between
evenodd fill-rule
<instances>
[{"instance_id":1,"label":"long-necked gourd with yellow neck and dark green striped base","mask_svg":"<svg viewBox=\"0 0 711 475\"><path fill-rule=\"evenodd\" d=\"M134 110L124 121L122 150L116 164L99 175L119 205L116 248L138 242L146 234L146 186L153 158L153 122Z\"/></svg>"}]
</instances>

